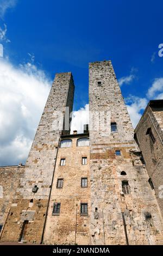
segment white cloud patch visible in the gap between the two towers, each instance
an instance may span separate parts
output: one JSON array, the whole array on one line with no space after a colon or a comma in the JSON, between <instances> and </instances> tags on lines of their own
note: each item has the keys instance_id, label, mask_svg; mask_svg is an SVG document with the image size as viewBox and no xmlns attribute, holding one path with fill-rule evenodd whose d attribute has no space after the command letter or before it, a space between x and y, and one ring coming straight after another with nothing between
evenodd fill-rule
<instances>
[{"instance_id":1,"label":"white cloud patch visible in the gap between the two towers","mask_svg":"<svg viewBox=\"0 0 163 256\"><path fill-rule=\"evenodd\" d=\"M71 133L73 133L74 130L77 130L78 133L83 133L84 124L89 124L89 104L73 112Z\"/></svg>"}]
</instances>

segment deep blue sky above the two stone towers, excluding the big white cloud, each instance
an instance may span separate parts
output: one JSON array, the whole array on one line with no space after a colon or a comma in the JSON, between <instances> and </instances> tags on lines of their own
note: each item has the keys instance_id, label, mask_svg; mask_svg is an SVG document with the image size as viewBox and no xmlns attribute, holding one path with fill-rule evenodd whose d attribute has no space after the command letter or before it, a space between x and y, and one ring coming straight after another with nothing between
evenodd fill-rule
<instances>
[{"instance_id":1,"label":"deep blue sky above the two stone towers, excluding the big white cloud","mask_svg":"<svg viewBox=\"0 0 163 256\"><path fill-rule=\"evenodd\" d=\"M163 57L158 55L163 43L162 9L158 0L0 0L1 62L16 72L23 66L29 75L28 64L36 76L41 70L49 84L56 72L72 71L74 111L78 111L88 103L88 63L110 59L135 126L147 102L163 97ZM31 140L32 136L34 131Z\"/></svg>"}]
</instances>

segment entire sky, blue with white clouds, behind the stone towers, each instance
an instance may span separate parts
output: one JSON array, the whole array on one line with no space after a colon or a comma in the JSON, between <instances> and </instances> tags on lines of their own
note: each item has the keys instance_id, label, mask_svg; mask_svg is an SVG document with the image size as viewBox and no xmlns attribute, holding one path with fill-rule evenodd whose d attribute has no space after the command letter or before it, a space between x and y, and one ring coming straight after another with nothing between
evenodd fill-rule
<instances>
[{"instance_id":1,"label":"entire sky, blue with white clouds, behind the stone towers","mask_svg":"<svg viewBox=\"0 0 163 256\"><path fill-rule=\"evenodd\" d=\"M0 166L25 162L56 72L87 123L88 63L112 60L133 126L163 99L162 1L0 0ZM163 52L163 51L162 51Z\"/></svg>"}]
</instances>

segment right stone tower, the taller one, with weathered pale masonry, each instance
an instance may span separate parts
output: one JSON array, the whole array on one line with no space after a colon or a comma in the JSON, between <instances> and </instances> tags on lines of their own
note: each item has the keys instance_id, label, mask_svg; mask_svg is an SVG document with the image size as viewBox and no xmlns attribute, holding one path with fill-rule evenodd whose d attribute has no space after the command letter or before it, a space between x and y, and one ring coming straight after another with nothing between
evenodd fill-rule
<instances>
[{"instance_id":1,"label":"right stone tower, the taller one, with weathered pale masonry","mask_svg":"<svg viewBox=\"0 0 163 256\"><path fill-rule=\"evenodd\" d=\"M111 127L90 127L91 243L162 244L160 211L110 61L89 65L89 108L90 117L110 112Z\"/></svg>"}]
</instances>

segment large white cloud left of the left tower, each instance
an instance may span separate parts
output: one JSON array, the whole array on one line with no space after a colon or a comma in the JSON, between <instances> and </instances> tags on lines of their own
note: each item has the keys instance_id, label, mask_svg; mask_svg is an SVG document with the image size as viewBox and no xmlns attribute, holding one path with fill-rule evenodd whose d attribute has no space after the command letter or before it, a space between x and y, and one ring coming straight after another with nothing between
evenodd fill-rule
<instances>
[{"instance_id":1,"label":"large white cloud left of the left tower","mask_svg":"<svg viewBox=\"0 0 163 256\"><path fill-rule=\"evenodd\" d=\"M0 59L0 166L26 160L51 84L34 64Z\"/></svg>"}]
</instances>

